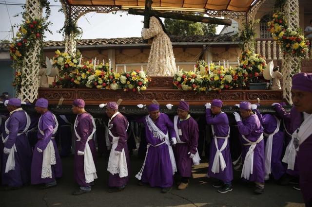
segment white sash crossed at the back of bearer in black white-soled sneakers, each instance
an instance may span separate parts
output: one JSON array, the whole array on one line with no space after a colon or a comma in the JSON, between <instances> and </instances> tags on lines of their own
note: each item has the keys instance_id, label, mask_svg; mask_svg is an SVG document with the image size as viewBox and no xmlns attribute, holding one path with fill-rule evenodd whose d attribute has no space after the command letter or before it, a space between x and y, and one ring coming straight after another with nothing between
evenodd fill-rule
<instances>
[{"instance_id":1,"label":"white sash crossed at the back of bearer in black white-soled sneakers","mask_svg":"<svg viewBox=\"0 0 312 207\"><path fill-rule=\"evenodd\" d=\"M226 163L224 160L224 157L222 155L222 151L226 148L226 146L228 145L228 138L230 137L230 126L229 126L229 132L228 132L228 136L226 137L217 137L215 135L215 130L214 130L214 125L211 125L211 129L214 135L214 140L215 140L215 148L216 148L216 152L215 152L215 158L214 158L214 163L213 166L211 168L211 171L213 173L219 173L219 169L221 167L221 171L224 171L224 169L226 168ZM222 138L225 139L220 150L218 148L218 138Z\"/></svg>"}]
</instances>

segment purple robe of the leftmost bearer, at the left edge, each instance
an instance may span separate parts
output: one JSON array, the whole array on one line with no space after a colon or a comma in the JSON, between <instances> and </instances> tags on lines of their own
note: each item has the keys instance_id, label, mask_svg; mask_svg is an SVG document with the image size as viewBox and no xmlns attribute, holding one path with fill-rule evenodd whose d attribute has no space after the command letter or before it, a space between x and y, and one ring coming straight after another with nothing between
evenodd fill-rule
<instances>
[{"instance_id":1,"label":"purple robe of the leftmost bearer, at the left edge","mask_svg":"<svg viewBox=\"0 0 312 207\"><path fill-rule=\"evenodd\" d=\"M15 144L17 152L14 154L15 170L8 173L5 172L5 165L8 155L3 154L2 162L2 184L10 187L20 187L23 184L28 184L30 181L30 165L32 151L27 139L26 134L21 133L26 127L27 119L24 111L16 111L10 116L6 127L10 133L4 136L9 136L4 147L11 149ZM2 152L2 151L1 151Z\"/></svg>"}]
</instances>

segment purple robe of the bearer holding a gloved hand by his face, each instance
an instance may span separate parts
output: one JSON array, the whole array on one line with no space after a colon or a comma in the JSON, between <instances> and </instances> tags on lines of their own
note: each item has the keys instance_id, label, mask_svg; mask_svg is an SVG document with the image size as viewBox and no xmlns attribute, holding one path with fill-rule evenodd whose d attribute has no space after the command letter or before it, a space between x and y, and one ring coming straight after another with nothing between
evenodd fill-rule
<instances>
[{"instance_id":1,"label":"purple robe of the bearer holding a gloved hand by his face","mask_svg":"<svg viewBox=\"0 0 312 207\"><path fill-rule=\"evenodd\" d=\"M256 141L260 135L263 133L263 128L261 123L257 117L257 115L253 114L243 121L237 121L239 136L244 135L248 140L254 142ZM241 137L242 143L247 144ZM244 164L244 160L246 154L249 150L250 145L243 145L242 147L242 162ZM265 164L264 164L264 140L261 140L254 148L254 167L253 174L250 175L249 181L264 183L264 174L265 174Z\"/></svg>"}]
</instances>

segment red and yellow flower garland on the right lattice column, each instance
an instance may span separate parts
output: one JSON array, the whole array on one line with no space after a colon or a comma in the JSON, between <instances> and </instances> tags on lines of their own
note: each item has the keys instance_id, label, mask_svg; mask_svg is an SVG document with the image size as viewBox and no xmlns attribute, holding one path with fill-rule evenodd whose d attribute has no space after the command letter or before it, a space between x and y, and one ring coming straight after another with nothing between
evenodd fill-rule
<instances>
[{"instance_id":1,"label":"red and yellow flower garland on the right lattice column","mask_svg":"<svg viewBox=\"0 0 312 207\"><path fill-rule=\"evenodd\" d=\"M288 26L286 17L281 12L273 14L272 21L268 22L268 31L271 32L273 39L282 46L284 54L289 53L304 58L308 53L309 41L305 39L299 28L293 31Z\"/></svg>"}]
</instances>

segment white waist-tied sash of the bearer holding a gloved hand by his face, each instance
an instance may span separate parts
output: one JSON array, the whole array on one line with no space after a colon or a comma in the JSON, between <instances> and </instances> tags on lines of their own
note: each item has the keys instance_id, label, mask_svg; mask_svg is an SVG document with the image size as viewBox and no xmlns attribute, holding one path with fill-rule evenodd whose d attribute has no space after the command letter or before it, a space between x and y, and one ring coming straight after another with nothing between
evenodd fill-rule
<instances>
[{"instance_id":1,"label":"white waist-tied sash of the bearer holding a gloved hand by his face","mask_svg":"<svg viewBox=\"0 0 312 207\"><path fill-rule=\"evenodd\" d=\"M245 156L244 165L243 165L243 169L242 169L242 173L240 177L244 177L246 180L249 180L249 177L251 174L253 174L253 169L254 169L254 148L260 141L262 141L263 134L261 134L260 137L255 142L248 140L244 135L241 135L241 136L243 139L245 139L248 142L247 144L243 144L243 145L245 146L250 145L250 147Z\"/></svg>"}]
</instances>

